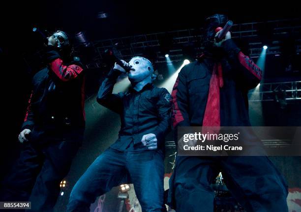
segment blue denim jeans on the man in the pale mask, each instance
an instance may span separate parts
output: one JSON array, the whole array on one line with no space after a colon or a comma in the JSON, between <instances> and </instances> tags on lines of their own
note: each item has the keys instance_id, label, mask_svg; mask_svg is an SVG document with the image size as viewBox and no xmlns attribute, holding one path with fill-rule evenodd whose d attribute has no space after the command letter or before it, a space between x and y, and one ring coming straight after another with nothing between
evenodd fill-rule
<instances>
[{"instance_id":1,"label":"blue denim jeans on the man in the pale mask","mask_svg":"<svg viewBox=\"0 0 301 212\"><path fill-rule=\"evenodd\" d=\"M89 212L97 196L132 182L143 212L164 212L164 155L160 151L107 149L90 165L70 194L67 212Z\"/></svg>"}]
</instances>

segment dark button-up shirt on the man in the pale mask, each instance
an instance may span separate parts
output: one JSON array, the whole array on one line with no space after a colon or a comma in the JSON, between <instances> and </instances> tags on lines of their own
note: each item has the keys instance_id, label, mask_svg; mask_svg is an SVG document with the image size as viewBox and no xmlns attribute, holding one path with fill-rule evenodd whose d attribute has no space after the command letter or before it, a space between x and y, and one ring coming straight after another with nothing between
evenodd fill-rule
<instances>
[{"instance_id":1,"label":"dark button-up shirt on the man in the pale mask","mask_svg":"<svg viewBox=\"0 0 301 212\"><path fill-rule=\"evenodd\" d=\"M142 136L153 133L158 149L164 147L164 138L170 129L170 94L164 88L146 85L142 91L130 88L113 94L113 87L120 71L111 70L98 91L99 104L120 114L121 128L118 140L111 146L120 151L147 150L141 143Z\"/></svg>"}]
</instances>

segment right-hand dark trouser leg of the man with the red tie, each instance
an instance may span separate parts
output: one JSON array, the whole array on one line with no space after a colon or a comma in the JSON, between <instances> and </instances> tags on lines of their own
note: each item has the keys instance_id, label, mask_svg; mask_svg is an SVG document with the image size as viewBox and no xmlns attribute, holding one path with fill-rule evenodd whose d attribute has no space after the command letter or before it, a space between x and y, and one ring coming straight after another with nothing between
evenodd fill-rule
<instances>
[{"instance_id":1,"label":"right-hand dark trouser leg of the man with the red tie","mask_svg":"<svg viewBox=\"0 0 301 212\"><path fill-rule=\"evenodd\" d=\"M287 212L287 184L265 156L224 157L227 187L247 212Z\"/></svg>"}]
</instances>

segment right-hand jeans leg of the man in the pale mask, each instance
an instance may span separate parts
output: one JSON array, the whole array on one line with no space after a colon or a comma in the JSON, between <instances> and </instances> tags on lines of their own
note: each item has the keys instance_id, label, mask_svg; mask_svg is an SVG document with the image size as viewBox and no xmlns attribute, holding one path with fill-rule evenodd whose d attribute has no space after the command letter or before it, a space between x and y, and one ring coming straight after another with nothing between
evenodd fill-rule
<instances>
[{"instance_id":1,"label":"right-hand jeans leg of the man in the pale mask","mask_svg":"<svg viewBox=\"0 0 301 212\"><path fill-rule=\"evenodd\" d=\"M126 167L142 211L166 212L163 153L158 151L128 152Z\"/></svg>"}]
</instances>

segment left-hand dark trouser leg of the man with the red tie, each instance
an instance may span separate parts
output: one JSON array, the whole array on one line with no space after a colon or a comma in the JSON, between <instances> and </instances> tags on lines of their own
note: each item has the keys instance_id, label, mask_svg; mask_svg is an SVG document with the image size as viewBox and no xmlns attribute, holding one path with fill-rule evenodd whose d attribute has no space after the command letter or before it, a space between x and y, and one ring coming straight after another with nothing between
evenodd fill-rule
<instances>
[{"instance_id":1,"label":"left-hand dark trouser leg of the man with the red tie","mask_svg":"<svg viewBox=\"0 0 301 212\"><path fill-rule=\"evenodd\" d=\"M177 212L213 212L210 186L218 175L214 157L177 156L169 195Z\"/></svg>"}]
</instances>

